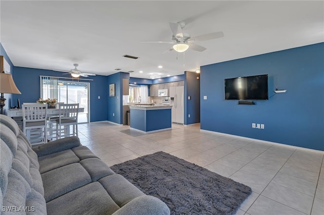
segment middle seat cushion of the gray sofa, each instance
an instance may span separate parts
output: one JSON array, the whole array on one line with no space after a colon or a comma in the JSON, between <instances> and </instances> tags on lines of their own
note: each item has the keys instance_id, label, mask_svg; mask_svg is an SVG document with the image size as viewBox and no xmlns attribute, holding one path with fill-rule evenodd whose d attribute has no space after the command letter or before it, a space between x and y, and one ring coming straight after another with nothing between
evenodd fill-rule
<instances>
[{"instance_id":1,"label":"middle seat cushion of the gray sofa","mask_svg":"<svg viewBox=\"0 0 324 215\"><path fill-rule=\"evenodd\" d=\"M88 172L79 163L51 170L41 176L46 202L92 182Z\"/></svg>"}]
</instances>

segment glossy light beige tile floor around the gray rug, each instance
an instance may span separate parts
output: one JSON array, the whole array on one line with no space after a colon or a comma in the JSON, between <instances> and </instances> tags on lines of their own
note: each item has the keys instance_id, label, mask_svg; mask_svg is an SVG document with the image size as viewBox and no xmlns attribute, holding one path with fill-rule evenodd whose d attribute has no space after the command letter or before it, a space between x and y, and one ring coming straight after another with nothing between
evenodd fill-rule
<instances>
[{"instance_id":1,"label":"glossy light beige tile floor around the gray rug","mask_svg":"<svg viewBox=\"0 0 324 215\"><path fill-rule=\"evenodd\" d=\"M79 138L108 166L165 151L252 188L236 214L324 214L324 152L200 131L200 125L144 134L96 122Z\"/></svg>"}]
</instances>

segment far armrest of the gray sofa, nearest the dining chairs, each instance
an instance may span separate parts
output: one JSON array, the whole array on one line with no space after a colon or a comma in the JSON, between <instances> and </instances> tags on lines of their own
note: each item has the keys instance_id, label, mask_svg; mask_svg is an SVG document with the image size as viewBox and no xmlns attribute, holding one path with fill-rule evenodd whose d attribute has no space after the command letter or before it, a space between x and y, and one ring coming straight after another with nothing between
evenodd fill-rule
<instances>
[{"instance_id":1,"label":"far armrest of the gray sofa, nearest the dining chairs","mask_svg":"<svg viewBox=\"0 0 324 215\"><path fill-rule=\"evenodd\" d=\"M40 157L66 149L71 149L79 145L81 145L79 138L72 136L54 140L53 142L49 142L43 145L35 146L32 149L36 152L37 156Z\"/></svg>"}]
</instances>

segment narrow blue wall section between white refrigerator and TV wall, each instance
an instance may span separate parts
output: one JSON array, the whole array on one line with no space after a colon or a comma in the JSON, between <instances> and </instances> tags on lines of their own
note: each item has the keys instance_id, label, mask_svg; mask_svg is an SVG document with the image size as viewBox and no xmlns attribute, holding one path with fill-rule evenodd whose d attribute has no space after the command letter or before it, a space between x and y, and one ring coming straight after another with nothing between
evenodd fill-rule
<instances>
[{"instance_id":1,"label":"narrow blue wall section between white refrigerator and TV wall","mask_svg":"<svg viewBox=\"0 0 324 215\"><path fill-rule=\"evenodd\" d=\"M184 84L184 124L194 124L200 122L200 74L185 72ZM188 96L191 99L188 99ZM190 114L190 118L188 115Z\"/></svg>"}]
</instances>

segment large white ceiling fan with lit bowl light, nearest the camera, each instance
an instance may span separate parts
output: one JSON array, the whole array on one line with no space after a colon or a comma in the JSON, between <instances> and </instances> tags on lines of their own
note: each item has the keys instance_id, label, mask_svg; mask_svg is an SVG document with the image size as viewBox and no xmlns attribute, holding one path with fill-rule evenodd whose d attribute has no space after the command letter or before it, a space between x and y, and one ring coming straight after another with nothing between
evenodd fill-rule
<instances>
[{"instance_id":1,"label":"large white ceiling fan with lit bowl light, nearest the camera","mask_svg":"<svg viewBox=\"0 0 324 215\"><path fill-rule=\"evenodd\" d=\"M224 36L222 31L203 34L195 37L191 37L190 34L183 32L182 29L186 26L184 22L172 23L170 22L170 28L172 31L172 41L141 41L141 42L153 42L153 43L170 43L173 44L170 48L166 51L178 51L183 52L186 51L188 48L191 48L195 51L204 51L206 50L205 47L197 44L193 44L194 42L199 41L206 41L211 39L217 39Z\"/></svg>"}]
</instances>

